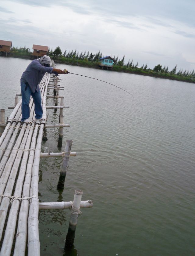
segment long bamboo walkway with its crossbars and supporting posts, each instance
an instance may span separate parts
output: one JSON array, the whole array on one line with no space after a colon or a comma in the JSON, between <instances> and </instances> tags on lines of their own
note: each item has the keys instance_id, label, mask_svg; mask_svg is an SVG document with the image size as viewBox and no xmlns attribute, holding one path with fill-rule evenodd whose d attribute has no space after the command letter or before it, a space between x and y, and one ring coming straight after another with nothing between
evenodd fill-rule
<instances>
[{"instance_id":1,"label":"long bamboo walkway with its crossbars and supporting posts","mask_svg":"<svg viewBox=\"0 0 195 256\"><path fill-rule=\"evenodd\" d=\"M54 65L54 63L53 63ZM62 157L62 170L58 187L63 187L68 168L69 157L76 156L70 152L72 141L66 140L66 148L62 153L41 153L42 139L46 138L46 129L59 127L59 143L62 143L63 97L59 90L64 89L57 83L57 78L48 73L40 82L43 118L35 121L34 103L30 99L31 124L21 122L21 100L15 97L15 106L5 123L5 110L0 117L0 256L39 256L39 209L71 208L69 231L66 236L67 246L72 246L76 222L80 207L92 207L92 201L81 201L82 191L76 190L73 202L39 203L38 180L40 157ZM54 90L54 96L47 92ZM49 91L50 90L50 91ZM55 106L46 106L46 97L55 98ZM60 99L60 106L58 106ZM59 109L59 124L47 124L47 109ZM57 184L56 184L57 185Z\"/></svg>"}]
</instances>

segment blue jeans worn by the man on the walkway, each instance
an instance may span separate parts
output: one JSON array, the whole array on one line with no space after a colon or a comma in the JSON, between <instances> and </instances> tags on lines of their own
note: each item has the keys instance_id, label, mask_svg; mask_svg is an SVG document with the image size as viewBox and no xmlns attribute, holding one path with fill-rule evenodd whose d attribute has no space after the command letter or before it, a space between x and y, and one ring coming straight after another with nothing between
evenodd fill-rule
<instances>
[{"instance_id":1,"label":"blue jeans worn by the man on the walkway","mask_svg":"<svg viewBox=\"0 0 195 256\"><path fill-rule=\"evenodd\" d=\"M34 93L31 92L30 87L27 86L25 82L20 83L21 87L21 94L22 94L22 119L24 120L28 119L30 117L30 107L29 107L29 101L30 101L30 95L32 96L34 100L34 112L35 112L35 118L40 119L43 116L43 110L41 106L41 92L35 91ZM25 91L26 88L26 91Z\"/></svg>"}]
</instances>

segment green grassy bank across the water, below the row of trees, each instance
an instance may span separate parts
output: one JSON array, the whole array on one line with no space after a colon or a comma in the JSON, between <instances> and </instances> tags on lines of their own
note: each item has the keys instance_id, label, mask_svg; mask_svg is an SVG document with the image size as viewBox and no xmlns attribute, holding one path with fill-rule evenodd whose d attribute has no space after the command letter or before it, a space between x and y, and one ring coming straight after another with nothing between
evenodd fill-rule
<instances>
[{"instance_id":1,"label":"green grassy bank across the water, below the row of trees","mask_svg":"<svg viewBox=\"0 0 195 256\"><path fill-rule=\"evenodd\" d=\"M21 58L21 59L32 59L32 55L12 54L12 55L10 55L10 57ZM61 57L61 56L60 57L50 56L50 57L52 59L54 59L56 63L60 63L60 64L100 69L99 62L73 59L73 58L65 58L65 57ZM187 83L195 83L195 78L192 78L189 76L185 77L185 76L180 76L180 75L171 74L171 73L165 74L165 73L161 73L161 72L154 72L151 69L144 70L144 69L140 69L140 68L129 68L125 65L124 66L114 65L112 71L144 75L144 76L151 76L151 77L155 77L155 78L164 78L164 79L182 81L182 82L187 82Z\"/></svg>"}]
</instances>

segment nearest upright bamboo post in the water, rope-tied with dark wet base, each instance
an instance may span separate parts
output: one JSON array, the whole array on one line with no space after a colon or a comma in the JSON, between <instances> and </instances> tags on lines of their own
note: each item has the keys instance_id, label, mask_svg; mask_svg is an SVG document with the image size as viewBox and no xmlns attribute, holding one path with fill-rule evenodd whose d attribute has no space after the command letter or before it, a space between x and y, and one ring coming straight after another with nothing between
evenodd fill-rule
<instances>
[{"instance_id":1,"label":"nearest upright bamboo post in the water, rope-tied with dark wet base","mask_svg":"<svg viewBox=\"0 0 195 256\"><path fill-rule=\"evenodd\" d=\"M74 243L76 224L79 216L79 209L80 209L82 194L83 192L81 190L75 190L65 247L71 247L73 246L73 243Z\"/></svg>"}]
</instances>

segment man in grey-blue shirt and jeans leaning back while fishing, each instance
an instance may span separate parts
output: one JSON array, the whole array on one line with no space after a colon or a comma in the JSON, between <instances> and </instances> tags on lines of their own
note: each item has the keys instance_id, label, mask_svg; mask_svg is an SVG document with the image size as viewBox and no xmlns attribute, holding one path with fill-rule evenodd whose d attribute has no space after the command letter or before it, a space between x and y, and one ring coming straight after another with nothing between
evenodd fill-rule
<instances>
[{"instance_id":1,"label":"man in grey-blue shirt and jeans leaning back while fishing","mask_svg":"<svg viewBox=\"0 0 195 256\"><path fill-rule=\"evenodd\" d=\"M41 121L43 110L41 106L41 92L39 83L46 72L58 74L67 74L61 69L50 67L51 59L49 56L44 55L40 59L34 59L23 72L20 79L21 94L22 94L22 119L21 121L30 124L30 96L34 100L35 121Z\"/></svg>"}]
</instances>

